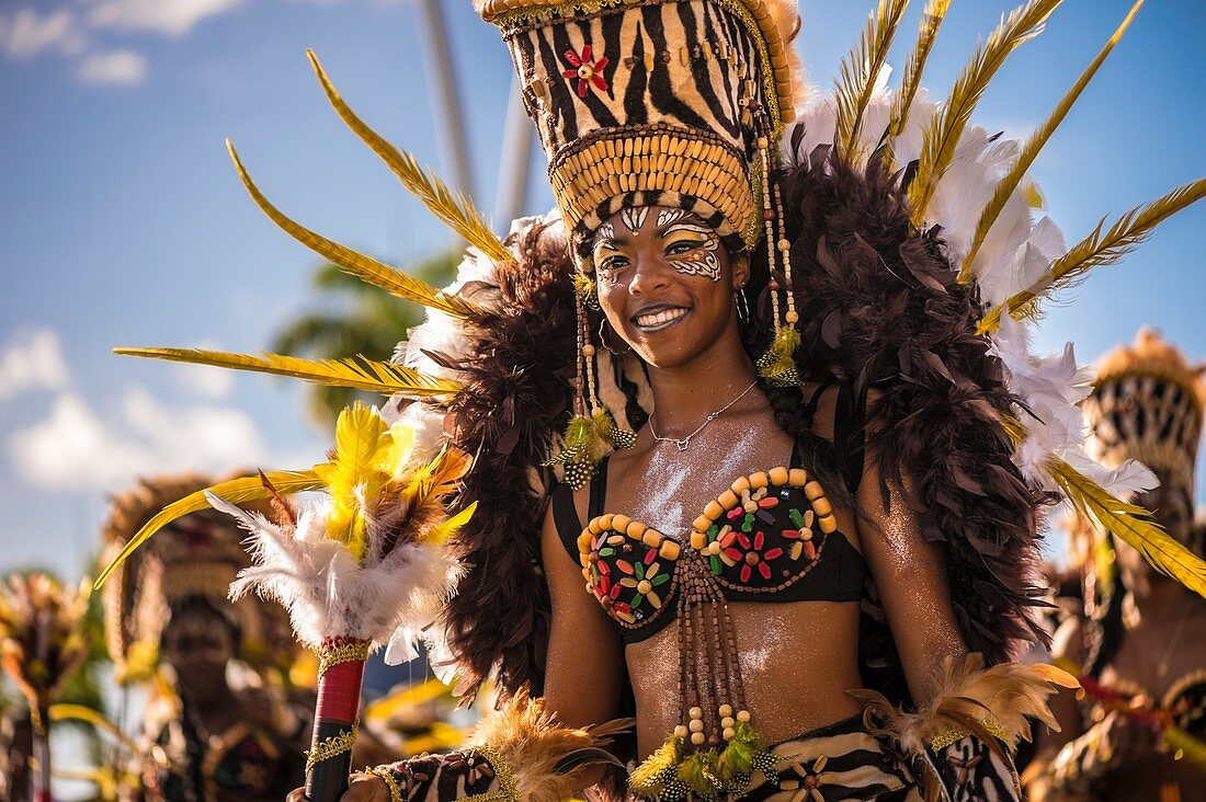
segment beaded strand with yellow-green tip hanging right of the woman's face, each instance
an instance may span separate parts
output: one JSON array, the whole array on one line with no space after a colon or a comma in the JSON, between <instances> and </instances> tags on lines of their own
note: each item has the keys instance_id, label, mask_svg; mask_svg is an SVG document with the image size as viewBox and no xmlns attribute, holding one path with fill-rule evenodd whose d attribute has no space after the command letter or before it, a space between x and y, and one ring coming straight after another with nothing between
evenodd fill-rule
<instances>
[{"instance_id":1,"label":"beaded strand with yellow-green tip hanging right of the woman's face","mask_svg":"<svg viewBox=\"0 0 1206 802\"><path fill-rule=\"evenodd\" d=\"M766 236L767 264L771 270L771 281L767 288L771 292L771 308L774 312L774 339L771 346L757 359L757 373L768 382L777 387L795 387L800 385L800 370L796 368L796 349L800 346L800 332L796 323L800 315L796 312L796 295L791 281L791 242L786 236L786 227L783 222L783 195L779 185L771 178L771 144L767 136L757 140L759 153L762 159L762 227ZM775 226L778 223L778 226ZM775 258L778 253L778 258ZM784 285L780 287L775 265L783 263ZM780 302L779 291L785 291L785 305L788 311L779 316Z\"/></svg>"}]
</instances>

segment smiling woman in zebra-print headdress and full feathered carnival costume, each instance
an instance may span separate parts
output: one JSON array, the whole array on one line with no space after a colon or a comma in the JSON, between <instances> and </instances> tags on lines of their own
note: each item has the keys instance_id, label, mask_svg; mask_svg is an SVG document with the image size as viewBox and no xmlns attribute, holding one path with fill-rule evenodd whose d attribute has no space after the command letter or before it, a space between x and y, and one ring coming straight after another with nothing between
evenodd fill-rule
<instances>
[{"instance_id":1,"label":"smiling woman in zebra-print headdress and full feathered carnival costume","mask_svg":"<svg viewBox=\"0 0 1206 802\"><path fill-rule=\"evenodd\" d=\"M480 5L557 200L505 242L315 62L345 122L476 246L452 287L299 227L239 164L292 235L432 308L399 355L412 371L142 352L392 391L416 447L474 457L433 665L514 703L344 798L1018 798L1011 749L1071 681L1011 662L1037 633L1040 505L1064 491L1161 537L1107 492L1147 474L1079 450L1071 352L1032 356L1021 326L1206 182L1067 252L1035 218L1043 137L1019 152L967 118L1058 0L1009 14L941 106L918 99L941 1L898 92L877 74L907 4L883 0L812 106L788 0ZM1176 554L1161 569L1206 589ZM634 740L615 737L628 715ZM604 775L608 737L626 766Z\"/></svg>"}]
</instances>

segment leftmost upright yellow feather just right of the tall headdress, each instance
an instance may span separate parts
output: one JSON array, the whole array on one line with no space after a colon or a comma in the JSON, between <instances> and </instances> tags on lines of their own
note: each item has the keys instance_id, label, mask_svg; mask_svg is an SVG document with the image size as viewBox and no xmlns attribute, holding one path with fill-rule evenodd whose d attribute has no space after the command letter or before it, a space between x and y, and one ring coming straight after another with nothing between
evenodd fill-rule
<instances>
[{"instance_id":1,"label":"leftmost upright yellow feather just right of the tall headdress","mask_svg":"<svg viewBox=\"0 0 1206 802\"><path fill-rule=\"evenodd\" d=\"M833 141L849 160L859 158L862 118L876 88L876 76L888 62L888 51L900 28L908 0L879 0L862 29L859 43L842 62L842 80L837 86L837 133Z\"/></svg>"}]
</instances>

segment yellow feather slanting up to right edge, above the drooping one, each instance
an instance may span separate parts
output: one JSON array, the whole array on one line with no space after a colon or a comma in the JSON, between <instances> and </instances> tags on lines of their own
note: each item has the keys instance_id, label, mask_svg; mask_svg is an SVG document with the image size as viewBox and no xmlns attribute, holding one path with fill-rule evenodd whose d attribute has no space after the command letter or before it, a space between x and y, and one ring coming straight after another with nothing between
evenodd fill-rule
<instances>
[{"instance_id":1,"label":"yellow feather slanting up to right edge, above the drooping one","mask_svg":"<svg viewBox=\"0 0 1206 802\"><path fill-rule=\"evenodd\" d=\"M982 334L995 332L1000 327L1001 315L1005 312L1018 320L1034 316L1038 311L1037 302L1041 298L1056 289L1076 285L1093 268L1113 264L1123 258L1135 246L1147 240L1157 226L1198 203L1202 197L1206 197L1206 178L1177 187L1146 206L1131 209L1119 217L1105 234L1101 233L1106 224L1106 218L1102 217L1091 234L1052 262L1050 269L1040 281L989 310L984 320L980 321L979 332Z\"/></svg>"}]
</instances>

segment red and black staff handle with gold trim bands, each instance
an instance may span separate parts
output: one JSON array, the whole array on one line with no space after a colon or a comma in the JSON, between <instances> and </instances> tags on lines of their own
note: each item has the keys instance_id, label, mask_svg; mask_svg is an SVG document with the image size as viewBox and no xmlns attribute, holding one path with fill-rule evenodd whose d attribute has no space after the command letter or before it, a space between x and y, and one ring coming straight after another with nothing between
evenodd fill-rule
<instances>
[{"instance_id":1,"label":"red and black staff handle with gold trim bands","mask_svg":"<svg viewBox=\"0 0 1206 802\"><path fill-rule=\"evenodd\" d=\"M353 638L328 638L318 649L318 701L305 765L309 802L338 802L347 790L368 656L369 642Z\"/></svg>"}]
</instances>

